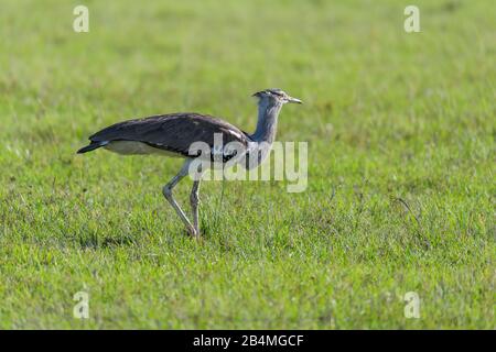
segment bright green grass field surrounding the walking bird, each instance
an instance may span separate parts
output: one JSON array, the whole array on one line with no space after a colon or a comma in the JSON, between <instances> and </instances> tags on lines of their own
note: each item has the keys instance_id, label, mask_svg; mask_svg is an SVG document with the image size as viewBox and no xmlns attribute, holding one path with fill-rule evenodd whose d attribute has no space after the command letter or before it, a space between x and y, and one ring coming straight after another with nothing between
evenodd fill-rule
<instances>
[{"instance_id":1,"label":"bright green grass field surrounding the walking bird","mask_svg":"<svg viewBox=\"0 0 496 352\"><path fill-rule=\"evenodd\" d=\"M0 328L495 329L494 3L416 0L408 34L410 2L2 1ZM270 87L308 188L204 183L200 242L180 160L75 154L157 113L252 131Z\"/></svg>"}]
</instances>

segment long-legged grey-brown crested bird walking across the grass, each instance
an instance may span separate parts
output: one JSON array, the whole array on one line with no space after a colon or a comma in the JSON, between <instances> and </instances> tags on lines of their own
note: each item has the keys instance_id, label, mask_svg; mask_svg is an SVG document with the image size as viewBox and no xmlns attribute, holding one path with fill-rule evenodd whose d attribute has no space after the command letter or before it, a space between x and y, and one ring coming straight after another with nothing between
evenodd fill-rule
<instances>
[{"instance_id":1,"label":"long-legged grey-brown crested bird walking across the grass","mask_svg":"<svg viewBox=\"0 0 496 352\"><path fill-rule=\"evenodd\" d=\"M258 99L258 121L254 133L247 133L234 124L208 114L179 112L131 119L115 123L89 136L90 143L77 151L78 154L105 148L121 155L160 154L182 157L184 163L179 173L162 188L162 194L175 210L187 232L198 239L200 183L207 167L225 167L233 162L245 168L254 168L263 162L276 139L278 117L285 103L302 103L279 88L269 88L252 95ZM237 148L215 148L215 139L222 138L223 145L236 144ZM192 152L194 143L209 147L205 153ZM207 154L209 153L209 155ZM214 161L214 164L206 162ZM196 176L190 195L193 221L173 197L173 188L188 175L194 165Z\"/></svg>"}]
</instances>

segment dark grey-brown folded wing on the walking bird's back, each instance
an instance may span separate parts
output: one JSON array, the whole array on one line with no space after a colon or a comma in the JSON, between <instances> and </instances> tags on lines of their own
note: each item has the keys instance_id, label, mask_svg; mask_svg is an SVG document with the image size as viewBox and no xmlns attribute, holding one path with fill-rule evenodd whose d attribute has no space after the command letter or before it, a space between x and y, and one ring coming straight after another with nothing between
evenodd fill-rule
<instances>
[{"instance_id":1,"label":"dark grey-brown folded wing on the walking bird's back","mask_svg":"<svg viewBox=\"0 0 496 352\"><path fill-rule=\"evenodd\" d=\"M172 113L134 119L112 124L89 136L91 142L137 141L153 147L188 155L194 142L214 146L214 134L223 135L223 144L247 145L247 134L220 119L200 113Z\"/></svg>"}]
</instances>

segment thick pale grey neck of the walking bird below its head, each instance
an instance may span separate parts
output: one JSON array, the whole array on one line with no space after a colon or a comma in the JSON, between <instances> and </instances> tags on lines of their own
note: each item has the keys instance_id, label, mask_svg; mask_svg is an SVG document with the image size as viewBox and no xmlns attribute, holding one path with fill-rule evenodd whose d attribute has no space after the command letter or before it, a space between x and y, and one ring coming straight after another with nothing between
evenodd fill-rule
<instances>
[{"instance_id":1,"label":"thick pale grey neck of the walking bird below its head","mask_svg":"<svg viewBox=\"0 0 496 352\"><path fill-rule=\"evenodd\" d=\"M278 116L282 105L276 101L261 100L258 105L257 130L251 134L255 142L272 144L276 139Z\"/></svg>"}]
</instances>

